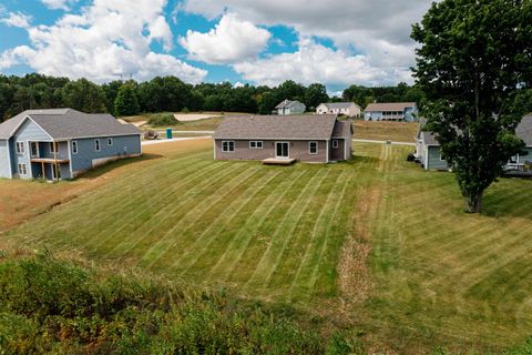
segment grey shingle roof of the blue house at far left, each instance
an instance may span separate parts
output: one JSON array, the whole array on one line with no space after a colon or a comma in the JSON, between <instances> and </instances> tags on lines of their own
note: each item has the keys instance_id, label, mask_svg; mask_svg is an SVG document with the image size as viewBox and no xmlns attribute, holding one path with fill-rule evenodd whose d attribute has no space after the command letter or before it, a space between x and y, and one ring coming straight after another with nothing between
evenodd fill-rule
<instances>
[{"instance_id":1,"label":"grey shingle roof of the blue house at far left","mask_svg":"<svg viewBox=\"0 0 532 355\"><path fill-rule=\"evenodd\" d=\"M111 114L88 114L72 109L28 110L0 124L0 139L9 139L29 116L52 139L130 135L141 132L133 124L122 124Z\"/></svg>"}]
</instances>

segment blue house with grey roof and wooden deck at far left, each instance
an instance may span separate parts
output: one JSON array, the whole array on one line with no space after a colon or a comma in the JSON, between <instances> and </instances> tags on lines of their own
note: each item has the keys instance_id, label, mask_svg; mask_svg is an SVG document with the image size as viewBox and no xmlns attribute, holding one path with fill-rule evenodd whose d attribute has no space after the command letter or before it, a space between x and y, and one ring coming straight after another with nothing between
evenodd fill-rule
<instances>
[{"instance_id":1,"label":"blue house with grey roof and wooden deck at far left","mask_svg":"<svg viewBox=\"0 0 532 355\"><path fill-rule=\"evenodd\" d=\"M74 179L141 153L139 129L110 114L30 110L0 124L0 178Z\"/></svg>"}]
</instances>

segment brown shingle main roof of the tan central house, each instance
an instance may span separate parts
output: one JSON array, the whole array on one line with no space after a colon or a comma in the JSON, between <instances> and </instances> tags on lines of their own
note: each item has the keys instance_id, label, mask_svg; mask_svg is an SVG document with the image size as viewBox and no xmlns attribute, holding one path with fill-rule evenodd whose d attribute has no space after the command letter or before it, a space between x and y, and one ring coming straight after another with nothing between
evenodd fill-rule
<instances>
[{"instance_id":1,"label":"brown shingle main roof of the tan central house","mask_svg":"<svg viewBox=\"0 0 532 355\"><path fill-rule=\"evenodd\" d=\"M329 140L336 122L336 114L229 116L214 139Z\"/></svg>"}]
</instances>

